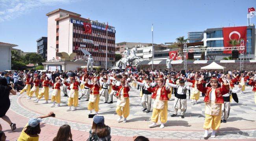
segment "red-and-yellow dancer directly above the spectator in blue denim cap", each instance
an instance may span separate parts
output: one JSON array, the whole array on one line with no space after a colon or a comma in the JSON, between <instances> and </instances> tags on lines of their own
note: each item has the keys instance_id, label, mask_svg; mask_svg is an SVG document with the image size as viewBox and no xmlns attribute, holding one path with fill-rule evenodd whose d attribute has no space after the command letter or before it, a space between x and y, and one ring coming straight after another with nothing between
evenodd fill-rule
<instances>
[{"instance_id":1,"label":"red-and-yellow dancer directly above the spectator in blue denim cap","mask_svg":"<svg viewBox=\"0 0 256 141\"><path fill-rule=\"evenodd\" d=\"M96 80L95 80L96 79ZM95 114L98 114L99 111L99 101L100 101L100 84L98 83L97 78L94 78L94 82L92 84L89 84L85 81L85 86L89 87L91 89L90 96L89 96L89 102L88 102L88 110L89 113L92 113L92 110L95 110Z\"/></svg>"}]
</instances>

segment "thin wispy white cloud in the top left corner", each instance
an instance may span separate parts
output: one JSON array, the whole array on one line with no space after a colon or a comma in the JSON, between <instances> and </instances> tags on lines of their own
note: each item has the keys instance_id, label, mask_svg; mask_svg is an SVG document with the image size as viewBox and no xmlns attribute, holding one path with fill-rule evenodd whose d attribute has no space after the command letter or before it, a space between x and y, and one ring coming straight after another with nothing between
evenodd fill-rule
<instances>
[{"instance_id":1,"label":"thin wispy white cloud in the top left corner","mask_svg":"<svg viewBox=\"0 0 256 141\"><path fill-rule=\"evenodd\" d=\"M44 6L70 4L77 0L0 0L0 22L13 20Z\"/></svg>"}]
</instances>

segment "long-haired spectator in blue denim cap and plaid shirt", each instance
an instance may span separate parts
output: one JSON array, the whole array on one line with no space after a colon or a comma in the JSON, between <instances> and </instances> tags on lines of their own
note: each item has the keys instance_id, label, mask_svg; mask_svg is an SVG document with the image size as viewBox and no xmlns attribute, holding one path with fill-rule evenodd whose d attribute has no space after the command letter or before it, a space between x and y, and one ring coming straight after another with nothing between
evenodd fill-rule
<instances>
[{"instance_id":1,"label":"long-haired spectator in blue denim cap and plaid shirt","mask_svg":"<svg viewBox=\"0 0 256 141\"><path fill-rule=\"evenodd\" d=\"M111 141L110 127L104 124L104 116L95 115L89 131L89 141Z\"/></svg>"}]
</instances>

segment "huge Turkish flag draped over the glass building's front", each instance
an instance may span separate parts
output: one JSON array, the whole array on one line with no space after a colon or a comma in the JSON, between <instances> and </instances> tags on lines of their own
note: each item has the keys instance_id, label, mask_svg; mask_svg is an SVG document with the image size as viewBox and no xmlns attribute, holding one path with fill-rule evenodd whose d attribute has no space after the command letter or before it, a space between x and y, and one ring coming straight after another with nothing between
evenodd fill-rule
<instances>
[{"instance_id":1,"label":"huge Turkish flag draped over the glass building's front","mask_svg":"<svg viewBox=\"0 0 256 141\"><path fill-rule=\"evenodd\" d=\"M247 27L246 26L242 26L242 27L223 27L223 42L224 42L224 47L232 47L234 45L231 45L229 42L230 40L244 40L245 42L245 46L246 46L246 31L247 31ZM240 46L237 45L237 46ZM246 47L245 50L246 52ZM226 54L231 54L232 51L223 51L223 53Z\"/></svg>"}]
</instances>

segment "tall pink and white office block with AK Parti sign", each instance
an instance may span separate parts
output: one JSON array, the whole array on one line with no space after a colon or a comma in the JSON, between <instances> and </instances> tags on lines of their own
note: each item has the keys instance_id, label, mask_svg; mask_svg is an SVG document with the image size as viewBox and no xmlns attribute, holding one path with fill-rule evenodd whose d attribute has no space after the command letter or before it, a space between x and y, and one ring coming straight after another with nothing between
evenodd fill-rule
<instances>
[{"instance_id":1,"label":"tall pink and white office block with AK Parti sign","mask_svg":"<svg viewBox=\"0 0 256 141\"><path fill-rule=\"evenodd\" d=\"M57 52L76 53L74 59L83 59L81 49L89 51L94 65L105 66L106 62L106 23L82 18L80 14L56 9L48 16L47 60L57 58ZM84 33L83 22L91 23L92 33ZM108 25L108 63L115 61L115 27Z\"/></svg>"}]
</instances>

